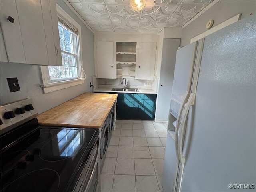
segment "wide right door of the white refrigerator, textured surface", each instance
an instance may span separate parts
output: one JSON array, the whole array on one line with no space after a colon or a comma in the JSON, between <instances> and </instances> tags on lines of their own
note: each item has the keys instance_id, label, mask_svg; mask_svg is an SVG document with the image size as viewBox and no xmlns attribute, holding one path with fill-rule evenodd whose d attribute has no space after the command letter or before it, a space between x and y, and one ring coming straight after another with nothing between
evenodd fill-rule
<instances>
[{"instance_id":1,"label":"wide right door of the white refrigerator, textured surface","mask_svg":"<svg viewBox=\"0 0 256 192\"><path fill-rule=\"evenodd\" d=\"M248 16L204 40L183 148L182 192L225 192L229 184L242 184L232 191L255 189L255 31L255 18Z\"/></svg>"}]
</instances>

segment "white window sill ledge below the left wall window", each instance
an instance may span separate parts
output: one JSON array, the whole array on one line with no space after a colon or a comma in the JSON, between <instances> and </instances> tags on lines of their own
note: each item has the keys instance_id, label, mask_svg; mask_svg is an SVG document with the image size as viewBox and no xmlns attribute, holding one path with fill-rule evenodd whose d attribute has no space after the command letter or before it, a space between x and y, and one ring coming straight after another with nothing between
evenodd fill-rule
<instances>
[{"instance_id":1,"label":"white window sill ledge below the left wall window","mask_svg":"<svg viewBox=\"0 0 256 192\"><path fill-rule=\"evenodd\" d=\"M53 91L65 89L68 87L76 86L79 84L83 84L84 79L72 79L67 81L60 81L60 82L54 82L54 83L48 83L48 84L40 84L40 87L43 88L44 93L50 93Z\"/></svg>"}]
</instances>

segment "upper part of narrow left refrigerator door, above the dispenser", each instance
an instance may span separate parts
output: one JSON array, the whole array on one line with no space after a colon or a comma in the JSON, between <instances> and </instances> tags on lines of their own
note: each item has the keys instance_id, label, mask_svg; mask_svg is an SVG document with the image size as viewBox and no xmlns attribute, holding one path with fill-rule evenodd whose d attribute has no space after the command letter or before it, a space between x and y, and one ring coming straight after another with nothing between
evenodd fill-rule
<instances>
[{"instance_id":1,"label":"upper part of narrow left refrigerator door, above the dispenser","mask_svg":"<svg viewBox=\"0 0 256 192\"><path fill-rule=\"evenodd\" d=\"M186 97L186 91L190 92L196 48L197 42L194 42L177 50L170 104L170 112L176 118Z\"/></svg>"}]
</instances>

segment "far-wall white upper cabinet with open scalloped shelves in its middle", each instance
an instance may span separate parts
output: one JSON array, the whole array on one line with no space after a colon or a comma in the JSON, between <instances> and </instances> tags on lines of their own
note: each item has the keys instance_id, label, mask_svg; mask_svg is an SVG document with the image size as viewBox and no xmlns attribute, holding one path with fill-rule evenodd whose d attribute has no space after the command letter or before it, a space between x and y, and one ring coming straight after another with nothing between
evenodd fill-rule
<instances>
[{"instance_id":1,"label":"far-wall white upper cabinet with open scalloped shelves in its middle","mask_svg":"<svg viewBox=\"0 0 256 192\"><path fill-rule=\"evenodd\" d=\"M97 78L153 80L160 35L95 33ZM114 57L113 57L114 56Z\"/></svg>"}]
</instances>

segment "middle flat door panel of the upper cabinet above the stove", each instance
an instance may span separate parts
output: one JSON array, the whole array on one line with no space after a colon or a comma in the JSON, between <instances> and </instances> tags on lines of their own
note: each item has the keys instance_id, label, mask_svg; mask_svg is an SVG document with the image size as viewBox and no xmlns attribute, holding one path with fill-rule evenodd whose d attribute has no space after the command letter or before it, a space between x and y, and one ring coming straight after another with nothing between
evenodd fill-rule
<instances>
[{"instance_id":1,"label":"middle flat door panel of the upper cabinet above the stove","mask_svg":"<svg viewBox=\"0 0 256 192\"><path fill-rule=\"evenodd\" d=\"M48 65L40 0L16 1L26 63Z\"/></svg>"}]
</instances>

